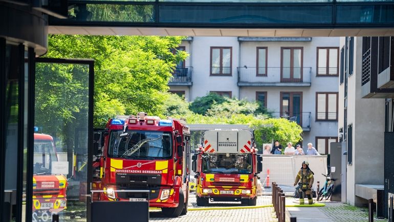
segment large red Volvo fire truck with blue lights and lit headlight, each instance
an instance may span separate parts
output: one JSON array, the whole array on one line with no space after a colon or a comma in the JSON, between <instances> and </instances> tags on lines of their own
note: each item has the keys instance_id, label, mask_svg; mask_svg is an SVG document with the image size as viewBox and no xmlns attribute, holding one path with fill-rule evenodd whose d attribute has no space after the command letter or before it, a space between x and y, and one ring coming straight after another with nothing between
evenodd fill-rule
<instances>
[{"instance_id":1,"label":"large red Volvo fire truck with blue lights and lit headlight","mask_svg":"<svg viewBox=\"0 0 394 222\"><path fill-rule=\"evenodd\" d=\"M140 112L110 119L103 131L99 200L149 201L167 216L187 213L190 130L180 119ZM100 153L100 152L98 152ZM149 190L149 195L119 190Z\"/></svg>"}]
</instances>

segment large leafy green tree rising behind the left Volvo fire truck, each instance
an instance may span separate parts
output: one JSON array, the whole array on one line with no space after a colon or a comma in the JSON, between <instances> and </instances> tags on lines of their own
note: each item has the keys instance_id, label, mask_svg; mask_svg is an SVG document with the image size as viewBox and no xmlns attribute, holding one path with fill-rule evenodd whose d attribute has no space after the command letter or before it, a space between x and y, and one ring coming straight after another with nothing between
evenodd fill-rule
<instances>
[{"instance_id":1,"label":"large leafy green tree rising behind the left Volvo fire truck","mask_svg":"<svg viewBox=\"0 0 394 222\"><path fill-rule=\"evenodd\" d=\"M187 53L171 50L182 36L50 35L48 57L95 60L94 125L117 114L163 116L168 80ZM44 102L45 103L45 102Z\"/></svg>"}]
</instances>

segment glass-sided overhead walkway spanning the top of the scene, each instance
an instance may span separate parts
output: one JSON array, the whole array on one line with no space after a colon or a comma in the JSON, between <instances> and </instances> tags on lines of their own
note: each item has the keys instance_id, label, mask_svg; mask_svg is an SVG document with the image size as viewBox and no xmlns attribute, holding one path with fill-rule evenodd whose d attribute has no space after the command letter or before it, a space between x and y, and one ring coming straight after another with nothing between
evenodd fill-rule
<instances>
[{"instance_id":1,"label":"glass-sided overhead walkway spanning the top of the scene","mask_svg":"<svg viewBox=\"0 0 394 222\"><path fill-rule=\"evenodd\" d=\"M394 35L394 1L70 0L50 33L188 36Z\"/></svg>"}]
</instances>

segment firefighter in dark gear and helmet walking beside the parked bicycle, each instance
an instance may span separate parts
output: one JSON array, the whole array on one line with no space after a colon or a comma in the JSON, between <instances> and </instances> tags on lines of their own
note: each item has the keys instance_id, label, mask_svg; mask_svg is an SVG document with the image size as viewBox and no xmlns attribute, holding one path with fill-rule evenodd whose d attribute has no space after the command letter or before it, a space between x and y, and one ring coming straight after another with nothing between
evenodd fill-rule
<instances>
[{"instance_id":1,"label":"firefighter in dark gear and helmet walking beside the parked bicycle","mask_svg":"<svg viewBox=\"0 0 394 222\"><path fill-rule=\"evenodd\" d=\"M312 200L312 185L313 185L313 172L309 169L308 161L302 162L302 168L298 172L294 181L294 186L297 185L298 181L301 183L300 187L300 205L304 204L304 194L308 197L308 204L313 204Z\"/></svg>"}]
</instances>

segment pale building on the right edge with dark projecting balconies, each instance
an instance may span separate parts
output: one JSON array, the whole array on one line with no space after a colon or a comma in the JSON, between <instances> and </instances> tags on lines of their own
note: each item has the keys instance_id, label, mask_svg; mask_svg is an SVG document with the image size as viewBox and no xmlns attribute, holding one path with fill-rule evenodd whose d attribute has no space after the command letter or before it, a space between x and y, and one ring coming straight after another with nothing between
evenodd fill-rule
<instances>
[{"instance_id":1,"label":"pale building on the right edge with dark projecting balconies","mask_svg":"<svg viewBox=\"0 0 394 222\"><path fill-rule=\"evenodd\" d=\"M342 180L347 185L342 199L364 205L361 186L370 193L384 189L381 200L374 201L389 221L394 193L393 65L394 37L341 37L338 132L346 147Z\"/></svg>"}]
</instances>

